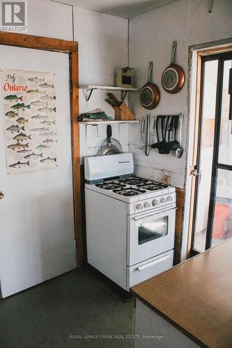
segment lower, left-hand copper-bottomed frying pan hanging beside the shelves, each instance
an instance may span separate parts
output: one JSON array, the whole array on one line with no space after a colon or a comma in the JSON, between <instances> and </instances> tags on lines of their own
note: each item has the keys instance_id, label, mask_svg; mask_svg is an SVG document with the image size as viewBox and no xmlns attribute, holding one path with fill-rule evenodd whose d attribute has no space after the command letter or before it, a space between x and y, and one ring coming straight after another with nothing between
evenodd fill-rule
<instances>
[{"instance_id":1,"label":"lower, left-hand copper-bottomed frying pan hanging beside the shelves","mask_svg":"<svg viewBox=\"0 0 232 348\"><path fill-rule=\"evenodd\" d=\"M148 81L139 92L139 100L145 109L155 109L160 102L160 89L151 82L153 62L149 62Z\"/></svg>"}]
</instances>

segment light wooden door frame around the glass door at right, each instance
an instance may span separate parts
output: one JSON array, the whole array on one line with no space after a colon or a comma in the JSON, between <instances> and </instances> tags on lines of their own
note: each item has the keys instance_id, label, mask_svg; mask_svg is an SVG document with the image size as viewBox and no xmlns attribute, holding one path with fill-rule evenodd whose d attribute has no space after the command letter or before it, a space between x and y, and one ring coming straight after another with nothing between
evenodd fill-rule
<instances>
[{"instance_id":1,"label":"light wooden door frame around the glass door at right","mask_svg":"<svg viewBox=\"0 0 232 348\"><path fill-rule=\"evenodd\" d=\"M191 175L191 171L196 168L199 151L199 122L201 112L201 63L203 56L209 56L212 54L224 53L232 50L232 45L222 45L219 47L211 47L209 49L196 50L196 95L195 95L195 119L194 119L194 145L193 145L193 159L192 166L187 171L187 175ZM192 177L192 184L190 190L190 214L188 224L188 237L187 237L187 258L190 258L192 248L192 234L194 228L194 206L196 204L196 176Z\"/></svg>"}]
</instances>

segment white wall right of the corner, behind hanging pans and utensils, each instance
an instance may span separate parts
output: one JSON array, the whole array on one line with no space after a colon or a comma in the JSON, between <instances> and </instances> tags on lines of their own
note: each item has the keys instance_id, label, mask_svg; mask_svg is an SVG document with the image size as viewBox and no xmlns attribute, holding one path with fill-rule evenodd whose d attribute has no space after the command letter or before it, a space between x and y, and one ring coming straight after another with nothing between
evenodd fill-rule
<instances>
[{"instance_id":1,"label":"white wall right of the corner, behind hanging pans and utensils","mask_svg":"<svg viewBox=\"0 0 232 348\"><path fill-rule=\"evenodd\" d=\"M146 83L148 62L154 62L153 82L161 92L160 104L150 111L152 116L183 112L185 114L183 144L185 153L181 159L174 154L160 155L151 150L150 156L136 146L139 139L139 125L130 127L130 150L137 162L137 171L142 175L162 178L171 175L171 184L183 188L185 184L185 161L187 149L187 73L188 49L190 45L201 44L231 37L232 33L232 2L231 0L214 1L212 13L208 13L208 1L178 0L162 6L150 13L130 19L130 66L137 68L137 86ZM186 82L183 89L176 95L164 91L161 76L169 65L171 44L178 41L176 63L183 67ZM144 117L146 109L136 95L130 96L130 106L137 118Z\"/></svg>"}]
</instances>

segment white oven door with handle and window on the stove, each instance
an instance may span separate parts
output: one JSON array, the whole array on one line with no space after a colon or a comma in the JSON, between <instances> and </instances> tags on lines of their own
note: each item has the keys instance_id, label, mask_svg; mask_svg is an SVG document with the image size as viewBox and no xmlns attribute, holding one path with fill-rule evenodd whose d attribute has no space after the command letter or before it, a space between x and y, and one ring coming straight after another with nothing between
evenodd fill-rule
<instances>
[{"instance_id":1,"label":"white oven door with handle and window on the stove","mask_svg":"<svg viewBox=\"0 0 232 348\"><path fill-rule=\"evenodd\" d=\"M174 247L176 204L128 216L127 266Z\"/></svg>"}]
</instances>

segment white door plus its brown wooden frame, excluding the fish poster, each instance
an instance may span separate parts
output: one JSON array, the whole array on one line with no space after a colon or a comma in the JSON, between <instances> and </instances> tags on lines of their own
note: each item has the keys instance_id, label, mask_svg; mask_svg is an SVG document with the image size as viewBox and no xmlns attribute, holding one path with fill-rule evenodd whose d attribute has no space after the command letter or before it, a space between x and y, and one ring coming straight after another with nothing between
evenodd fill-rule
<instances>
[{"instance_id":1,"label":"white door plus its brown wooden frame, excluding the fish poster","mask_svg":"<svg viewBox=\"0 0 232 348\"><path fill-rule=\"evenodd\" d=\"M0 197L3 199L0 244L1 299L75 268L75 256L77 267L80 267L83 248L77 122L77 42L0 33L0 46L1 68L9 68L11 65L11 68L31 71L55 70L59 86L56 88L59 129L62 129L59 145L60 165L56 173L44 171L25 174L20 175L19 180L16 175L7 176L4 171L6 163L1 137L0 181L1 189L5 193L1 193ZM3 122L0 128L3 134ZM68 255L65 254L67 249Z\"/></svg>"}]
</instances>

